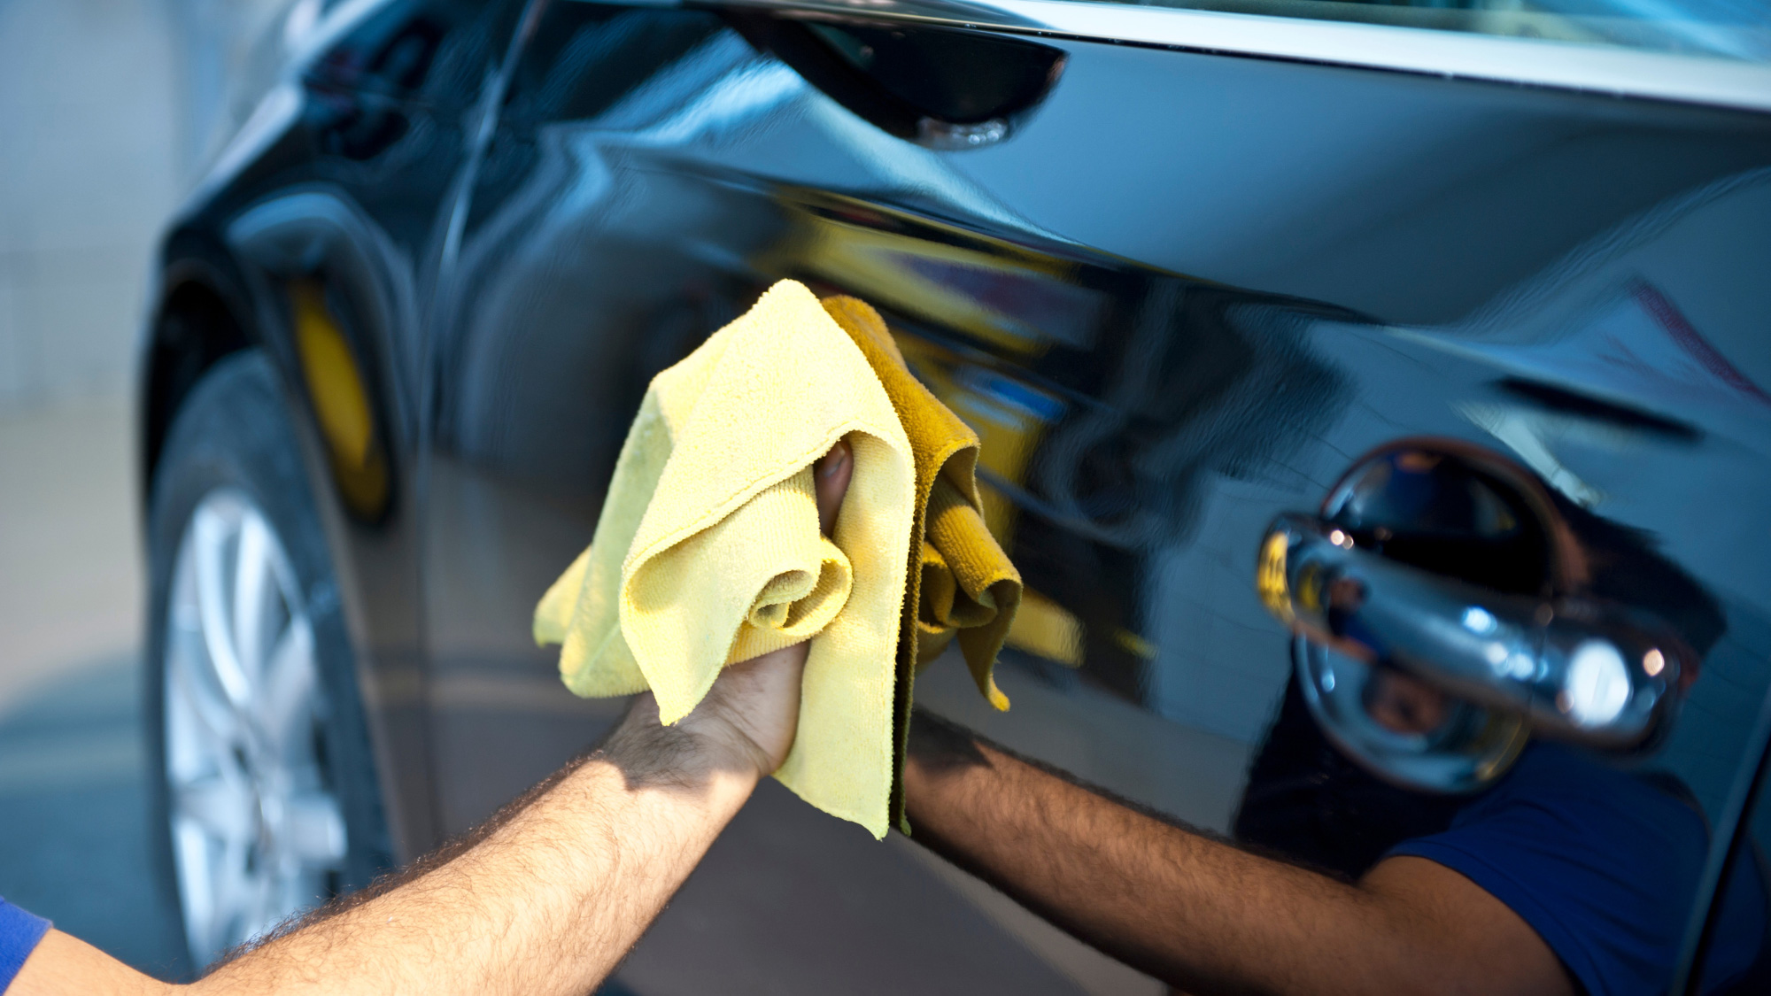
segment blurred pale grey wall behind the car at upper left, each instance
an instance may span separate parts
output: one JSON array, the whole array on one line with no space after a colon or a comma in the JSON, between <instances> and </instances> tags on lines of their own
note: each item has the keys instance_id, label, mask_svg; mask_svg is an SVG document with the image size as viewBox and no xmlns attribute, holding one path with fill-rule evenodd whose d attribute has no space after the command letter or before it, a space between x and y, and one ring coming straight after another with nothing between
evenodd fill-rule
<instances>
[{"instance_id":1,"label":"blurred pale grey wall behind the car at upper left","mask_svg":"<svg viewBox=\"0 0 1771 996\"><path fill-rule=\"evenodd\" d=\"M154 243L319 7L0 0L0 415L128 392Z\"/></svg>"}]
</instances>

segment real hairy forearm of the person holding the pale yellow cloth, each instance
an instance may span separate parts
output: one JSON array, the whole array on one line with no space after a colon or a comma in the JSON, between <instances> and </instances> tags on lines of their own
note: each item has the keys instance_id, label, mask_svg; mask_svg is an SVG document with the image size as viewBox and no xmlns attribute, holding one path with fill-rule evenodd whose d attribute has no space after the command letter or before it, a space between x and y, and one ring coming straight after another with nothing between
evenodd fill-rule
<instances>
[{"instance_id":1,"label":"real hairy forearm of the person holding the pale yellow cloth","mask_svg":"<svg viewBox=\"0 0 1771 996\"><path fill-rule=\"evenodd\" d=\"M629 720L483 840L221 966L198 992L581 994L639 939L756 783Z\"/></svg>"}]
</instances>

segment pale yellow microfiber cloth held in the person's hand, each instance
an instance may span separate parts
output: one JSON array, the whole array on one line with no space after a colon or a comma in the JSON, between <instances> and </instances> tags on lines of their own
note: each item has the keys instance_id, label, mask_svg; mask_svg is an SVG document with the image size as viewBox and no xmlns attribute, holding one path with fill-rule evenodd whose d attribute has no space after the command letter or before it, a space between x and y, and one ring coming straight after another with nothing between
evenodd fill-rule
<instances>
[{"instance_id":1,"label":"pale yellow microfiber cloth held in the person's hand","mask_svg":"<svg viewBox=\"0 0 1771 996\"><path fill-rule=\"evenodd\" d=\"M855 466L825 539L811 464L843 438ZM776 778L884 836L923 491L868 358L811 291L783 280L652 379L590 549L542 595L535 640L561 645L574 693L650 688L675 723L724 665L816 634Z\"/></svg>"}]
</instances>

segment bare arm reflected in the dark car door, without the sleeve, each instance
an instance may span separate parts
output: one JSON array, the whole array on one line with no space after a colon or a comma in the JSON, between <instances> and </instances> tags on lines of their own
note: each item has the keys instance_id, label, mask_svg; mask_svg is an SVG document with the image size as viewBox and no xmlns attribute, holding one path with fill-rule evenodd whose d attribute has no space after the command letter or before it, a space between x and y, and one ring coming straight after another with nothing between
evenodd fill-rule
<instances>
[{"instance_id":1,"label":"bare arm reflected in the dark car door, without the sleeve","mask_svg":"<svg viewBox=\"0 0 1771 996\"><path fill-rule=\"evenodd\" d=\"M1195 992L1571 994L1500 900L1420 858L1358 883L1172 826L916 712L914 840L1102 952Z\"/></svg>"}]
</instances>

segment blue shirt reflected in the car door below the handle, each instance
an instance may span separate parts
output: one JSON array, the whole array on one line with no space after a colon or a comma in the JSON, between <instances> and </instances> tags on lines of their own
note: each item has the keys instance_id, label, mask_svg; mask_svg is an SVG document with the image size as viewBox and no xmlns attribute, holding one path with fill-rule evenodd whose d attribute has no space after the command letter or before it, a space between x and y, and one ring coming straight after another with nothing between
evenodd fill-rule
<instances>
[{"instance_id":1,"label":"blue shirt reflected in the car door below the handle","mask_svg":"<svg viewBox=\"0 0 1771 996\"><path fill-rule=\"evenodd\" d=\"M1690 805L1569 748L1534 743L1449 829L1390 854L1436 861L1482 886L1537 930L1590 996L1647 996L1672 982L1707 851L1709 828ZM1705 991L1746 971L1766 936L1753 861L1730 872Z\"/></svg>"}]
</instances>

